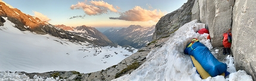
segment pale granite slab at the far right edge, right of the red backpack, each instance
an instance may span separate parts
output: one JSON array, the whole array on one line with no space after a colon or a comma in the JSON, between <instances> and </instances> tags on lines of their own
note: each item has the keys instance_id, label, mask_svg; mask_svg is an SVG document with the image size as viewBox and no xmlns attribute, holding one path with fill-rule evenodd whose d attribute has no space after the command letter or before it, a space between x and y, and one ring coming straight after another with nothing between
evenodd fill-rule
<instances>
[{"instance_id":1,"label":"pale granite slab at the far right edge, right of the red backpack","mask_svg":"<svg viewBox=\"0 0 256 81\"><path fill-rule=\"evenodd\" d=\"M256 80L256 1L236 0L232 19L232 52L236 70L245 70Z\"/></svg>"}]
</instances>

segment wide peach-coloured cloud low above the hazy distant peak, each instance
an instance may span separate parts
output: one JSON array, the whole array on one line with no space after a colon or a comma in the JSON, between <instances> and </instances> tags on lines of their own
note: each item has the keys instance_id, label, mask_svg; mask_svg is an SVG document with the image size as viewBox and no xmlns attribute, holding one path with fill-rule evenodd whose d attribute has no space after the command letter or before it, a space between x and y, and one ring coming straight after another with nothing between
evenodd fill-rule
<instances>
[{"instance_id":1,"label":"wide peach-coloured cloud low above the hazy distant peak","mask_svg":"<svg viewBox=\"0 0 256 81\"><path fill-rule=\"evenodd\" d=\"M147 10L139 6L136 6L129 11L120 13L120 17L110 17L113 20L126 20L126 21L155 21L160 20L166 12L161 12L160 10Z\"/></svg>"}]
</instances>

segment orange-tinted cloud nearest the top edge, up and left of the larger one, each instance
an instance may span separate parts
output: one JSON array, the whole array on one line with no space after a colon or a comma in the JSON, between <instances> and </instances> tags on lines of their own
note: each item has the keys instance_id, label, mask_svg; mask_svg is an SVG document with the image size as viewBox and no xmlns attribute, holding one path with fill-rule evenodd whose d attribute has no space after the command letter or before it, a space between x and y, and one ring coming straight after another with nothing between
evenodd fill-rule
<instances>
[{"instance_id":1,"label":"orange-tinted cloud nearest the top edge, up and left of the larger one","mask_svg":"<svg viewBox=\"0 0 256 81\"><path fill-rule=\"evenodd\" d=\"M85 14L88 15L101 15L106 14L108 11L117 12L113 5L104 1L90 1L89 4L78 2L76 5L71 5L70 9L83 9Z\"/></svg>"}]
</instances>

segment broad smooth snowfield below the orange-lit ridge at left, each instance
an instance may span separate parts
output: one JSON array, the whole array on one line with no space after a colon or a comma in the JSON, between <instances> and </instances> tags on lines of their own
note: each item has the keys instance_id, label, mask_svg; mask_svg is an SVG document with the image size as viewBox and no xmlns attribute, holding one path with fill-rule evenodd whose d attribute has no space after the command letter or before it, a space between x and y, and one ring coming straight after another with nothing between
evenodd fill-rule
<instances>
[{"instance_id":1,"label":"broad smooth snowfield below the orange-lit ridge at left","mask_svg":"<svg viewBox=\"0 0 256 81\"><path fill-rule=\"evenodd\" d=\"M0 27L0 71L42 73L75 70L89 73L113 66L132 54L122 47L75 43L48 34L20 31L12 25L7 20Z\"/></svg>"}]
</instances>

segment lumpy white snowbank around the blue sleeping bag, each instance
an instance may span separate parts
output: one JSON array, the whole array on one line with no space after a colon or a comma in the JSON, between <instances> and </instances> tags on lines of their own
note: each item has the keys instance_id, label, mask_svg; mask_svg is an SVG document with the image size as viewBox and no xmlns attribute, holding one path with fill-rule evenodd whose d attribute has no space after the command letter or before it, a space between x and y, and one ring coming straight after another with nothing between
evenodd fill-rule
<instances>
[{"instance_id":1,"label":"lumpy white snowbank around the blue sleeping bag","mask_svg":"<svg viewBox=\"0 0 256 81\"><path fill-rule=\"evenodd\" d=\"M205 36L208 34L199 35L195 33L199 30L199 26L195 21L191 21L183 25L177 30L167 43L158 49L152 50L146 59L138 69L134 70L130 74L126 74L122 77L114 79L113 81L199 81L202 80L196 73L195 67L192 66L192 61L189 55L183 53L186 44L188 44L192 38L198 38L201 43L205 44L208 48L211 48L210 40L205 40ZM213 54L218 52L214 51ZM229 78L226 79L223 76L208 77L204 80L242 80L252 81L252 77L246 74L245 71L239 70L236 72L233 64L233 57L227 57L228 72L230 72Z\"/></svg>"}]
</instances>

